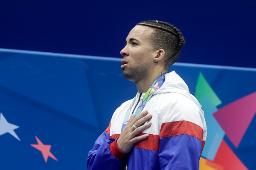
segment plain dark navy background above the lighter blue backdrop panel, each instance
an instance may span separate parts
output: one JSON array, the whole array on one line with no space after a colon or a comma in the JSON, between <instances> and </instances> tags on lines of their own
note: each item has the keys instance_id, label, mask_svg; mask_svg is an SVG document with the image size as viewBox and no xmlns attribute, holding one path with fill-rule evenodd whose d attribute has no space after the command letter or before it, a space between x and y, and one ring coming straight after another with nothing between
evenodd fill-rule
<instances>
[{"instance_id":1,"label":"plain dark navy background above the lighter blue backdrop panel","mask_svg":"<svg viewBox=\"0 0 256 170\"><path fill-rule=\"evenodd\" d=\"M131 28L163 20L186 44L178 62L256 67L253 0L1 0L0 48L121 57Z\"/></svg>"}]
</instances>

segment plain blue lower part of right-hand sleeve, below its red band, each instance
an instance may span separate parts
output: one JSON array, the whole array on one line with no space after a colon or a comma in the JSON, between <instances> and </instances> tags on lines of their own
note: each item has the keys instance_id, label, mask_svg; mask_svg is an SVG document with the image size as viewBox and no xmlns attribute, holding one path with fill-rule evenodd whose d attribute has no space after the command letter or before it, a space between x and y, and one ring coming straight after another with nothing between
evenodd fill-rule
<instances>
[{"instance_id":1,"label":"plain blue lower part of right-hand sleeve, below its red band","mask_svg":"<svg viewBox=\"0 0 256 170\"><path fill-rule=\"evenodd\" d=\"M202 143L190 135L160 138L160 170L199 170Z\"/></svg>"}]
</instances>

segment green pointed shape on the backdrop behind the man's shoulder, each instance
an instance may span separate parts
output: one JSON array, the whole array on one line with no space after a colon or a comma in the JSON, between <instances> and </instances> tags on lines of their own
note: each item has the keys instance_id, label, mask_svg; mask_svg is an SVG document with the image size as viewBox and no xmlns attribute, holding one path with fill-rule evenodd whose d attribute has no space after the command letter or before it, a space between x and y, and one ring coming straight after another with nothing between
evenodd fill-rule
<instances>
[{"instance_id":1,"label":"green pointed shape on the backdrop behind the man's shoulder","mask_svg":"<svg viewBox=\"0 0 256 170\"><path fill-rule=\"evenodd\" d=\"M200 72L198 76L198 81L195 87L195 97L198 99L198 101L200 101L205 96L209 96L209 98L211 99L212 103L215 106L218 106L221 104L221 100L218 98L218 96L212 90L209 83L204 78L203 74Z\"/></svg>"}]
</instances>

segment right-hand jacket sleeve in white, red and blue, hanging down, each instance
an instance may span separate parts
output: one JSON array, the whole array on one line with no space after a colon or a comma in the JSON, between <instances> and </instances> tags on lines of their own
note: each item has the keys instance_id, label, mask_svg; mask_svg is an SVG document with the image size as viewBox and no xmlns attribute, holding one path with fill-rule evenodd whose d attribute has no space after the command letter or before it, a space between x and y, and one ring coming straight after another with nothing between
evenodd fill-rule
<instances>
[{"instance_id":1,"label":"right-hand jacket sleeve in white, red and blue, hanging down","mask_svg":"<svg viewBox=\"0 0 256 170\"><path fill-rule=\"evenodd\" d=\"M160 170L199 170L204 130L200 110L175 103L166 109L160 128Z\"/></svg>"}]
</instances>

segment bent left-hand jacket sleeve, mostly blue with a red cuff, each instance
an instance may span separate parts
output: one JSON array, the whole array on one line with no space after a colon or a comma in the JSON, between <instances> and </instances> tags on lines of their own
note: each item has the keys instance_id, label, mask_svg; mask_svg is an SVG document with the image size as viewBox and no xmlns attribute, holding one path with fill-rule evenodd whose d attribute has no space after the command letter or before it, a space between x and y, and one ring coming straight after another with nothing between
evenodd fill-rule
<instances>
[{"instance_id":1,"label":"bent left-hand jacket sleeve, mostly blue with a red cuff","mask_svg":"<svg viewBox=\"0 0 256 170\"><path fill-rule=\"evenodd\" d=\"M125 153L119 150L116 144L117 138L110 138L108 129L105 130L95 141L93 149L87 158L88 170L113 170L120 169L123 164Z\"/></svg>"}]
</instances>

